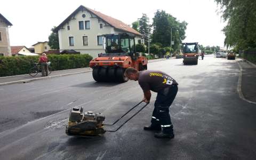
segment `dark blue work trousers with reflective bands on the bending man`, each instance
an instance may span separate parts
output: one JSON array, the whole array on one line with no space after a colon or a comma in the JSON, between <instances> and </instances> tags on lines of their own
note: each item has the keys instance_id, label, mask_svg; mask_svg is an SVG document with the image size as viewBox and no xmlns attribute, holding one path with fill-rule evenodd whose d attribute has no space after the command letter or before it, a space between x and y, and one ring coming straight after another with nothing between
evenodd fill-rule
<instances>
[{"instance_id":1,"label":"dark blue work trousers with reflective bands on the bending man","mask_svg":"<svg viewBox=\"0 0 256 160\"><path fill-rule=\"evenodd\" d=\"M151 118L151 125L161 126L164 133L173 133L173 125L169 113L169 107L178 92L177 85L171 85L159 91L156 96L155 108Z\"/></svg>"}]
</instances>

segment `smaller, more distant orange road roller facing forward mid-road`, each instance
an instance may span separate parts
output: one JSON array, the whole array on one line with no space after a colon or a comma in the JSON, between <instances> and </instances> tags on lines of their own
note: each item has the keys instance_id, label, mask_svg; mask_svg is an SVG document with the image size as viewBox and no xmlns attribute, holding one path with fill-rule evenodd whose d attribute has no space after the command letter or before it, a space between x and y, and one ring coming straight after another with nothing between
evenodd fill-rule
<instances>
[{"instance_id":1,"label":"smaller, more distant orange road roller facing forward mid-road","mask_svg":"<svg viewBox=\"0 0 256 160\"><path fill-rule=\"evenodd\" d=\"M182 54L184 65L197 65L198 57L201 54L198 42L182 43Z\"/></svg>"}]
</instances>

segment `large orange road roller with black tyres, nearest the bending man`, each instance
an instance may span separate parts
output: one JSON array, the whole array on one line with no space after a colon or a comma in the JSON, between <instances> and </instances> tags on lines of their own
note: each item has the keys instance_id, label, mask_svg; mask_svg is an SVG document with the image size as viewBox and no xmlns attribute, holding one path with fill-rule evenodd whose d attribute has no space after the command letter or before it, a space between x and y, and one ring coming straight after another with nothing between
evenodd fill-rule
<instances>
[{"instance_id":1,"label":"large orange road roller with black tyres, nearest the bending man","mask_svg":"<svg viewBox=\"0 0 256 160\"><path fill-rule=\"evenodd\" d=\"M148 60L136 52L134 34L102 35L106 53L90 61L92 76L98 82L127 82L126 68L146 70Z\"/></svg>"}]
</instances>

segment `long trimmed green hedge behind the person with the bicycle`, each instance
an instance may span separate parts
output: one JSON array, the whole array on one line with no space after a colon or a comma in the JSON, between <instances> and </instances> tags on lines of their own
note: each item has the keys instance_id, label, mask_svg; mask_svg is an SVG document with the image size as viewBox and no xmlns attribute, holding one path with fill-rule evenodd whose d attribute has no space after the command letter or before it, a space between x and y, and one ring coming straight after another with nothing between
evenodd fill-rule
<instances>
[{"instance_id":1,"label":"long trimmed green hedge behind the person with the bicycle","mask_svg":"<svg viewBox=\"0 0 256 160\"><path fill-rule=\"evenodd\" d=\"M92 60L88 54L47 55L52 70L89 67ZM0 57L0 77L28 74L39 56Z\"/></svg>"}]
</instances>

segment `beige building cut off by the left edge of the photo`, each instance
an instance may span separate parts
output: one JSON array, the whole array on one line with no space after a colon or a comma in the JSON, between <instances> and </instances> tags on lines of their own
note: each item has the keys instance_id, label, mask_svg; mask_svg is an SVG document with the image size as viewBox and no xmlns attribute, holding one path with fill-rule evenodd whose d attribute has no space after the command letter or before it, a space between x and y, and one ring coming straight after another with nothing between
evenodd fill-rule
<instances>
[{"instance_id":1,"label":"beige building cut off by the left edge of the photo","mask_svg":"<svg viewBox=\"0 0 256 160\"><path fill-rule=\"evenodd\" d=\"M0 13L0 56L10 56L11 46L9 39L9 27L12 26L12 23L9 22L1 13Z\"/></svg>"}]
</instances>

